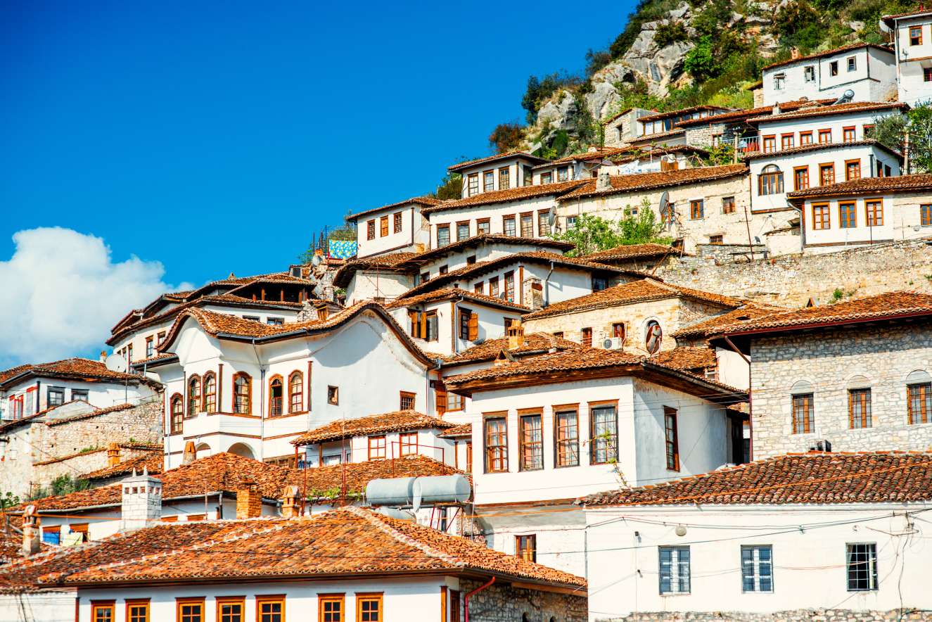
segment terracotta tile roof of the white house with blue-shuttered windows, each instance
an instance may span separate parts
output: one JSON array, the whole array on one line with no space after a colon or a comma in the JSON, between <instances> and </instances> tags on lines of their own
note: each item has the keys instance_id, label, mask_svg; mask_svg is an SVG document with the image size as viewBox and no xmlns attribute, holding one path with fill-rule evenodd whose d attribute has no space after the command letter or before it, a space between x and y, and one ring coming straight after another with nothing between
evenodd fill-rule
<instances>
[{"instance_id":1,"label":"terracotta tile roof of the white house with blue-shuttered windows","mask_svg":"<svg viewBox=\"0 0 932 622\"><path fill-rule=\"evenodd\" d=\"M932 500L932 452L790 453L700 476L598 492L583 505L909 503Z\"/></svg>"}]
</instances>

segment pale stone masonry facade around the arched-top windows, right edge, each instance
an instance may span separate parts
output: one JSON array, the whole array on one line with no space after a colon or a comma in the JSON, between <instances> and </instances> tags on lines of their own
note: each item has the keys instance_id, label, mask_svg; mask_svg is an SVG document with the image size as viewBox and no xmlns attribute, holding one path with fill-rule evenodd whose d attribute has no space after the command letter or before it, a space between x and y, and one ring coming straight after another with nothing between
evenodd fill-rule
<instances>
[{"instance_id":1,"label":"pale stone masonry facade around the arched-top windows, right edge","mask_svg":"<svg viewBox=\"0 0 932 622\"><path fill-rule=\"evenodd\" d=\"M833 451L932 447L932 423L910 424L907 412L907 378L932 372L932 325L790 333L753 339L750 350L755 459L822 439ZM870 388L869 428L851 428L851 388ZM792 434L792 395L810 392L814 431Z\"/></svg>"}]
</instances>

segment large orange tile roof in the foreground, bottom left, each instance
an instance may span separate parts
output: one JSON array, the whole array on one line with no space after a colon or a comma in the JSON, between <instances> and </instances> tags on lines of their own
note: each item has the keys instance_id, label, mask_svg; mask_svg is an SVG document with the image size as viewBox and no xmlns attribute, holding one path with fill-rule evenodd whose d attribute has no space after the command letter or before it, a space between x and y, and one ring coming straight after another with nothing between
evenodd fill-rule
<instances>
[{"instance_id":1,"label":"large orange tile roof in the foreground, bottom left","mask_svg":"<svg viewBox=\"0 0 932 622\"><path fill-rule=\"evenodd\" d=\"M582 577L352 506L305 518L166 523L34 558L3 569L0 576L51 587L468 572L579 587L582 596L586 586Z\"/></svg>"}]
</instances>

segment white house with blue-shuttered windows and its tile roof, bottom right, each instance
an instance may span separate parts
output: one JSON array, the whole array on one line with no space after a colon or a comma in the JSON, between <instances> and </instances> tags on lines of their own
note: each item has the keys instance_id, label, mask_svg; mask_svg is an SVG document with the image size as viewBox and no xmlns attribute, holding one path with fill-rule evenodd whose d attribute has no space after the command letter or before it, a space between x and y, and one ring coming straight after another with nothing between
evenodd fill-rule
<instances>
[{"instance_id":1,"label":"white house with blue-shuttered windows and its tile roof, bottom right","mask_svg":"<svg viewBox=\"0 0 932 622\"><path fill-rule=\"evenodd\" d=\"M590 495L589 619L927 611L916 571L928 563L930 464L929 452L788 454Z\"/></svg>"}]
</instances>

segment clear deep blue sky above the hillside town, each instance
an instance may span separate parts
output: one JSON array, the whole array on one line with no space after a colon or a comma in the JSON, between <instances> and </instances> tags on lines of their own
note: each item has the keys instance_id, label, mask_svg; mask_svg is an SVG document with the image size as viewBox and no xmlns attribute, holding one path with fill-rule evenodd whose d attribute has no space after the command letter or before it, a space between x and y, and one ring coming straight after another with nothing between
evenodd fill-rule
<instances>
[{"instance_id":1,"label":"clear deep blue sky above the hillside town","mask_svg":"<svg viewBox=\"0 0 932 622\"><path fill-rule=\"evenodd\" d=\"M528 76L581 70L632 6L4 3L0 262L62 227L165 283L283 270L487 155Z\"/></svg>"}]
</instances>

